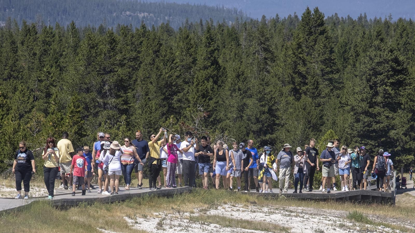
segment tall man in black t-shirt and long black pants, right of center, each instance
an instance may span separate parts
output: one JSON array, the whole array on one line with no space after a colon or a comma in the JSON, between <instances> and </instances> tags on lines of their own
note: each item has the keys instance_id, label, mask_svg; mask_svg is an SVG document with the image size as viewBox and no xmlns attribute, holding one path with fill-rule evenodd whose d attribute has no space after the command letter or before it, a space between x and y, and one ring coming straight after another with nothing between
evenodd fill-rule
<instances>
[{"instance_id":1,"label":"tall man in black t-shirt and long black pants, right of center","mask_svg":"<svg viewBox=\"0 0 415 233\"><path fill-rule=\"evenodd\" d=\"M306 189L307 182L310 181L309 189L305 192L312 192L312 184L314 182L314 174L315 170L320 170L320 167L318 166L319 158L318 158L318 150L317 148L314 148L315 145L315 139L310 139L310 146L305 148L305 155L307 158L305 159L305 167L307 168L307 173L304 177L304 189Z\"/></svg>"}]
</instances>

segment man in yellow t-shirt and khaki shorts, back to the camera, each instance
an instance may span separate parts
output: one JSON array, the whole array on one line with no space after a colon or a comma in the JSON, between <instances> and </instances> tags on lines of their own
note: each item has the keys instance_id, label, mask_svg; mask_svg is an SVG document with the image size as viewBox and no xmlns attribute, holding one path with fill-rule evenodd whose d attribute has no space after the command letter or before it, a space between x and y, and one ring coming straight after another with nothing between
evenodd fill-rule
<instances>
[{"instance_id":1,"label":"man in yellow t-shirt and khaki shorts, back to the camera","mask_svg":"<svg viewBox=\"0 0 415 233\"><path fill-rule=\"evenodd\" d=\"M68 140L68 132L62 133L62 139L59 140L56 147L59 150L61 157L59 158L59 167L61 167L61 177L63 182L63 188L68 189L69 186L72 187L72 174L71 174L71 163L72 157L71 153L75 152L71 141ZM68 176L66 176L68 174Z\"/></svg>"}]
</instances>

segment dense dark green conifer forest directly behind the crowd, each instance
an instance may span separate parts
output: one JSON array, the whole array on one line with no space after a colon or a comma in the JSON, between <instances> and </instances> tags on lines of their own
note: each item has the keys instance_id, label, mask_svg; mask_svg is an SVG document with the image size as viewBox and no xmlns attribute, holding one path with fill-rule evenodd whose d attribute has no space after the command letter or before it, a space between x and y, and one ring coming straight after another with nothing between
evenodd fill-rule
<instances>
[{"instance_id":1,"label":"dense dark green conifer forest directly behind the crowd","mask_svg":"<svg viewBox=\"0 0 415 233\"><path fill-rule=\"evenodd\" d=\"M414 54L412 21L325 19L318 8L301 20L177 31L9 21L0 29L0 158L22 139L35 149L62 131L74 146L92 145L98 131L120 140L164 126L279 149L333 129L341 144L383 148L408 167Z\"/></svg>"}]
</instances>

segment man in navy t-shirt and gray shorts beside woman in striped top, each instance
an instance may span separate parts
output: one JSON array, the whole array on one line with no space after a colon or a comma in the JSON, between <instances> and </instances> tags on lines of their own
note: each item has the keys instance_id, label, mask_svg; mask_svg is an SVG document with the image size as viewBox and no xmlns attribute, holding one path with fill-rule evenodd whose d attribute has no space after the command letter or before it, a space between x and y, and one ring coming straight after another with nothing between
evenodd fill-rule
<instances>
[{"instance_id":1,"label":"man in navy t-shirt and gray shorts beside woman in striped top","mask_svg":"<svg viewBox=\"0 0 415 233\"><path fill-rule=\"evenodd\" d=\"M142 189L143 185L143 171L144 171L144 165L146 164L147 158L150 155L150 148L149 143L146 140L143 140L143 133L139 130L135 133L135 138L132 141L132 144L136 147L137 154L140 157L143 165L139 163L139 161L134 158L134 172L135 177L137 177L138 184L137 188Z\"/></svg>"}]
</instances>

